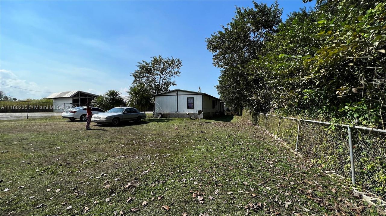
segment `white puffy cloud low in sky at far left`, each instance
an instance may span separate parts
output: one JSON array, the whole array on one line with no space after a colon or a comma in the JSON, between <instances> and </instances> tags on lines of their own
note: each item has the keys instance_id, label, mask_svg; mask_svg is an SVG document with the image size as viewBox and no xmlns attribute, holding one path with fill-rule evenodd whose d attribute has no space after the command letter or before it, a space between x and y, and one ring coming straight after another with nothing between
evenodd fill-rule
<instances>
[{"instance_id":1,"label":"white puffy cloud low in sky at far left","mask_svg":"<svg viewBox=\"0 0 386 216\"><path fill-rule=\"evenodd\" d=\"M36 91L49 91L48 88L39 86L32 81L29 82L26 80L22 80L17 75L15 75L12 71L5 70L5 69L0 70L0 83L5 84L5 85L1 85L0 87L2 91L4 91L7 95L11 95L12 97L15 97L21 100L26 98L42 98L44 96L49 95L49 93L36 92ZM17 88L12 88L10 86L14 86ZM27 91L19 88L35 90L35 91Z\"/></svg>"}]
</instances>

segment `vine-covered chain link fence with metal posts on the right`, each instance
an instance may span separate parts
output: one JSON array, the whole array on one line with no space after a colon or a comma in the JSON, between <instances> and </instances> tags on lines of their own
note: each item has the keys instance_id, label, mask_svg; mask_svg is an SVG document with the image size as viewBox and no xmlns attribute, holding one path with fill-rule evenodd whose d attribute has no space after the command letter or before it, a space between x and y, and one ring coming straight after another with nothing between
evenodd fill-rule
<instances>
[{"instance_id":1,"label":"vine-covered chain link fence with metal posts on the right","mask_svg":"<svg viewBox=\"0 0 386 216\"><path fill-rule=\"evenodd\" d=\"M386 130L245 110L243 115L324 170L335 171L356 188L386 199Z\"/></svg>"}]
</instances>

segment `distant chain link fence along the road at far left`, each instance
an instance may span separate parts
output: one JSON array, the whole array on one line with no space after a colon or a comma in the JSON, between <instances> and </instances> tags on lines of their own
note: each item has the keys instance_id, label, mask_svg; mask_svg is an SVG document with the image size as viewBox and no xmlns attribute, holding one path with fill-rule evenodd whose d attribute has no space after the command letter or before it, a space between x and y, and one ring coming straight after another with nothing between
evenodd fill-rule
<instances>
[{"instance_id":1,"label":"distant chain link fence along the road at far left","mask_svg":"<svg viewBox=\"0 0 386 216\"><path fill-rule=\"evenodd\" d=\"M63 110L76 107L70 103L41 101L0 101L0 120L17 120L61 116Z\"/></svg>"}]
</instances>

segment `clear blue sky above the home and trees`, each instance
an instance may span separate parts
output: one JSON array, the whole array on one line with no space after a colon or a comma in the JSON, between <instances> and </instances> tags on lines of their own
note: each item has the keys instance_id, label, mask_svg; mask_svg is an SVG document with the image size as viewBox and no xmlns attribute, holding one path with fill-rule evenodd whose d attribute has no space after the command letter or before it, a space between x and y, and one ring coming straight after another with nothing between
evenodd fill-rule
<instances>
[{"instance_id":1,"label":"clear blue sky above the home and trees","mask_svg":"<svg viewBox=\"0 0 386 216\"><path fill-rule=\"evenodd\" d=\"M271 5L273 1L263 1ZM220 69L205 38L252 1L1 1L0 82L36 91L126 94L130 72L152 56L180 58L180 88L218 96ZM279 1L282 19L315 2ZM1 90L18 99L49 93Z\"/></svg>"}]
</instances>

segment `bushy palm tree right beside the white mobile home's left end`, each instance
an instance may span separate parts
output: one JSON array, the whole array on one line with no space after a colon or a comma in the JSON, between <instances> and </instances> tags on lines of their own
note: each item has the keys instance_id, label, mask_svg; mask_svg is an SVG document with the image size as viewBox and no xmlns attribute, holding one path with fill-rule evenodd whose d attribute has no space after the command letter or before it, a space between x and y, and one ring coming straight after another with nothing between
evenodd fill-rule
<instances>
[{"instance_id":1,"label":"bushy palm tree right beside the white mobile home's left end","mask_svg":"<svg viewBox=\"0 0 386 216\"><path fill-rule=\"evenodd\" d=\"M126 106L131 106L139 111L146 111L151 105L152 96L144 84L132 86L127 93L130 96Z\"/></svg>"}]
</instances>

